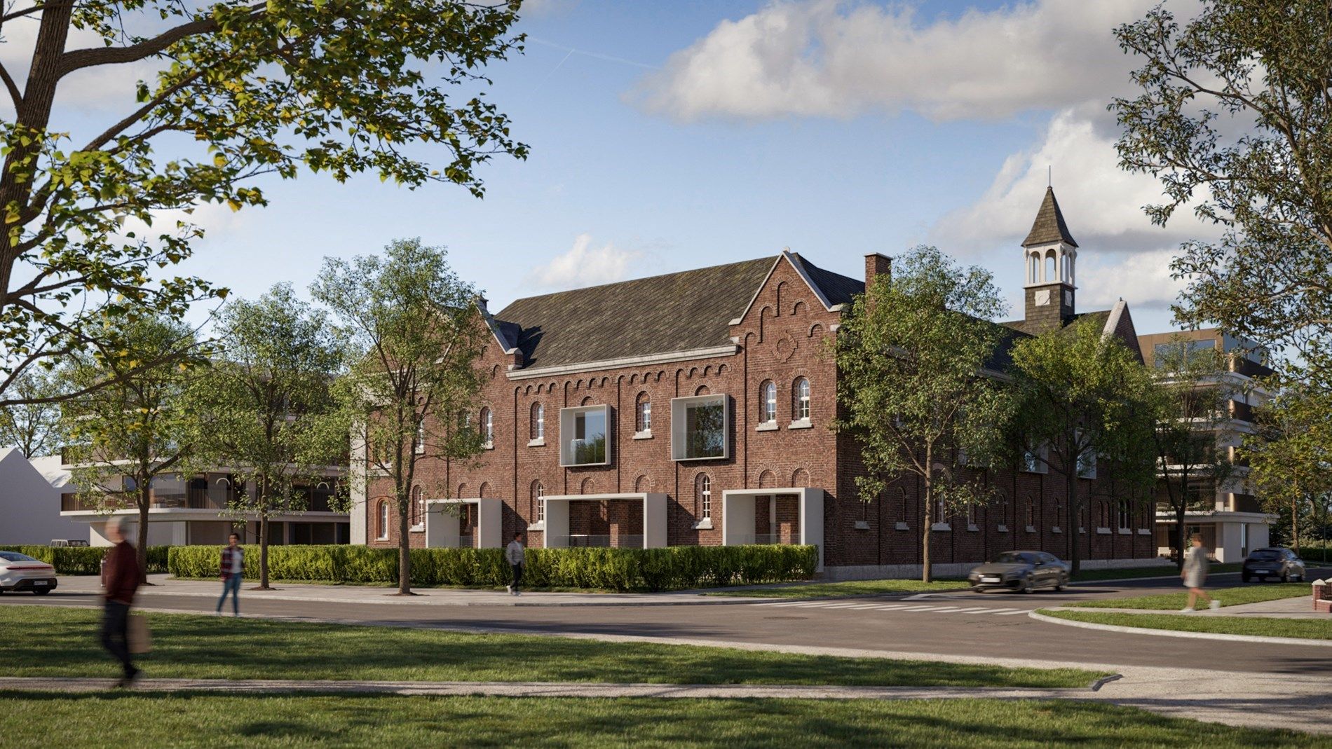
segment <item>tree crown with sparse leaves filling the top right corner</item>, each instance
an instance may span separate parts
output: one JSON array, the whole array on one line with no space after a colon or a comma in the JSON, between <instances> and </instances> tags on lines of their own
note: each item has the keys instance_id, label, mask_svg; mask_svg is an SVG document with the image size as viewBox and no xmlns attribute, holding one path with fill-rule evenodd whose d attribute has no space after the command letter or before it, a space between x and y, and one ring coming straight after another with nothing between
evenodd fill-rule
<instances>
[{"instance_id":1,"label":"tree crown with sparse leaves filling the top right corner","mask_svg":"<svg viewBox=\"0 0 1332 749\"><path fill-rule=\"evenodd\" d=\"M1192 12L1192 8L1191 8ZM1224 229L1187 242L1176 314L1299 353L1332 376L1332 13L1320 0L1205 0L1180 24L1158 5L1115 31L1142 93L1116 98L1120 166L1160 178L1164 225L1192 208Z\"/></svg>"}]
</instances>

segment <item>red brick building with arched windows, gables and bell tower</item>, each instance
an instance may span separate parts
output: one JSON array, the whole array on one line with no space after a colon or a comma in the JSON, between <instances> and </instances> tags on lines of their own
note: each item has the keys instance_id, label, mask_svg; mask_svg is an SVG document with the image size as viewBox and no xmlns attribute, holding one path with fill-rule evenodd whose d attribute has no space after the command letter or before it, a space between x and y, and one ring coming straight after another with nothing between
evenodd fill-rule
<instances>
[{"instance_id":1,"label":"red brick building with arched windows, gables and bell tower","mask_svg":"<svg viewBox=\"0 0 1332 749\"><path fill-rule=\"evenodd\" d=\"M1026 315L1004 323L1018 337L1083 317L1076 246L1047 193L1024 242ZM489 383L470 418L489 447L470 464L418 460L410 543L502 545L514 531L535 547L811 543L834 576L914 573L919 487L904 478L862 502L859 448L830 428L829 337L888 271L878 254L848 278L783 250L482 310ZM1123 302L1086 314L1136 350ZM1074 536L1091 565L1155 556L1150 507L1094 499L1075 522L1062 476L1027 468L984 470L998 499L935 524L935 563L1011 548L1067 556ZM1090 498L1103 483L1079 480ZM384 494L372 480L356 498L353 543L397 544Z\"/></svg>"}]
</instances>

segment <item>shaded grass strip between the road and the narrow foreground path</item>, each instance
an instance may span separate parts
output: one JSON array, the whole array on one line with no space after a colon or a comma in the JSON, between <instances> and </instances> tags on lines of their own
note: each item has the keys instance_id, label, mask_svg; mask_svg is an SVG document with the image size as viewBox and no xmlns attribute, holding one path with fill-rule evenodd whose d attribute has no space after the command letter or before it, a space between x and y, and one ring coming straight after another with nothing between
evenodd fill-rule
<instances>
[{"instance_id":1,"label":"shaded grass strip between the road and the narrow foreground path","mask_svg":"<svg viewBox=\"0 0 1332 749\"><path fill-rule=\"evenodd\" d=\"M1008 669L534 635L147 616L155 651L141 665L149 677L1087 686L1104 676L1074 668ZM4 674L115 676L97 644L97 623L93 609L0 605L0 632L40 633L9 639Z\"/></svg>"}]
</instances>

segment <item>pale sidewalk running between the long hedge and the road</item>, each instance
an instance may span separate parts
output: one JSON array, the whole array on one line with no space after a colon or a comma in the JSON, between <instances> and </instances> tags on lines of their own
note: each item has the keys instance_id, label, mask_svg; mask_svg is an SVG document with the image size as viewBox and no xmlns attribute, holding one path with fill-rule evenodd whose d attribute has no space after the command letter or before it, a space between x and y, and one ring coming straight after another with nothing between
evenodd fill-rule
<instances>
[{"instance_id":1,"label":"pale sidewalk running between the long hedge and the road","mask_svg":"<svg viewBox=\"0 0 1332 749\"><path fill-rule=\"evenodd\" d=\"M216 580L176 580L169 575L149 575L152 585L139 588L137 597L143 601L153 596L196 596L217 599L222 584ZM719 597L705 596L699 591L673 591L665 593L547 593L523 592L521 596L505 591L472 591L460 588L413 588L416 595L398 596L393 587L370 585L309 585L296 583L273 583L270 591L253 591L258 583L246 580L241 588L241 608L246 600L269 601L309 601L330 604L374 604L374 605L513 605L513 607L579 607L579 605L735 605L749 603L775 601L770 597ZM101 592L101 581L96 575L61 576L55 591L59 593L96 595ZM226 604L230 607L230 603Z\"/></svg>"}]
</instances>

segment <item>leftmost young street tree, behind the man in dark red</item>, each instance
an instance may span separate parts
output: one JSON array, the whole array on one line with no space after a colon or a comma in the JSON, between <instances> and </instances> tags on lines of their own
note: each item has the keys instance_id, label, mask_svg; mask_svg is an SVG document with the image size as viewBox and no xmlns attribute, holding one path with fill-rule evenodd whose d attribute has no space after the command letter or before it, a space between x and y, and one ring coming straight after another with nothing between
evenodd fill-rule
<instances>
[{"instance_id":1,"label":"leftmost young street tree, behind the man in dark red","mask_svg":"<svg viewBox=\"0 0 1332 749\"><path fill-rule=\"evenodd\" d=\"M200 416L186 392L206 350L190 329L168 319L136 319L117 338L125 346L120 355L81 353L65 373L68 390L83 391L64 404L71 480L84 506L139 511L139 563L147 569L153 484L177 476L193 447ZM95 382L113 384L89 390Z\"/></svg>"}]
</instances>

